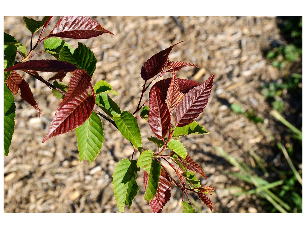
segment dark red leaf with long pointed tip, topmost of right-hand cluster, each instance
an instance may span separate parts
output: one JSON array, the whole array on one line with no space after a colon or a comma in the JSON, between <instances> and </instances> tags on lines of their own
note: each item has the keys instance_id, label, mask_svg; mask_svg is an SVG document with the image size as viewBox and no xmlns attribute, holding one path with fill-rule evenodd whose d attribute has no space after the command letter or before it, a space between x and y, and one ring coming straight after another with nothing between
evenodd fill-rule
<instances>
[{"instance_id":1,"label":"dark red leaf with long pointed tip, topmost of right-hand cluster","mask_svg":"<svg viewBox=\"0 0 306 229\"><path fill-rule=\"evenodd\" d=\"M140 76L141 78L144 79L145 82L147 82L148 79L151 79L152 77L157 75L160 71L162 71L162 68L165 67L167 64L168 56L175 45L172 45L169 48L166 48L160 51L159 53L156 53L144 63L144 65L141 67Z\"/></svg>"}]
</instances>

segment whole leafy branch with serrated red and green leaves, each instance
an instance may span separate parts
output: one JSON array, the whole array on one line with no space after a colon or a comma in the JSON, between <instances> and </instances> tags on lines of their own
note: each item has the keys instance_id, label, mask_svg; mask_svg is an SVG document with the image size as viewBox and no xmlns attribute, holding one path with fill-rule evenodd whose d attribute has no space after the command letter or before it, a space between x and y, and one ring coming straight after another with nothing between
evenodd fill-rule
<instances>
[{"instance_id":1,"label":"whole leafy branch with serrated red and green leaves","mask_svg":"<svg viewBox=\"0 0 306 229\"><path fill-rule=\"evenodd\" d=\"M207 194L211 195L215 188L201 186L195 173L206 179L207 177L200 165L187 154L180 137L188 134L207 134L205 128L195 119L206 107L214 75L202 84L177 78L176 72L182 68L197 67L195 64L169 60L170 52L174 46L181 43L179 42L156 53L144 63L140 71L144 85L138 106L133 113L121 111L111 98L112 95L118 96L118 92L114 91L109 83L101 80L94 86L91 85L97 63L94 53L80 42L74 49L60 39L88 39L112 33L90 18L64 16L55 23L49 34L42 38L51 19L52 16L44 16L41 21L24 17L25 26L32 34L29 52L25 45L4 32L4 154L8 156L14 133L16 106L13 94L17 95L20 89L21 98L37 110L39 117L41 114L28 83L17 72L21 70L45 83L52 88L54 96L62 99L43 142L76 129L80 161L88 160L91 164L98 156L104 141L100 116L113 124L132 144L134 151L131 152L131 159L119 161L113 173L114 195L120 213L124 211L125 205L130 208L139 191L135 178L140 168L144 170L144 199L149 202L152 212L162 212L163 206L170 199L172 184L182 191L183 213L196 212L188 198L190 192L195 192L212 210L213 203ZM40 29L39 38L32 46L33 35ZM33 54L43 41L44 50ZM21 60L15 62L17 53ZM49 53L56 60L30 60L40 53ZM52 83L43 79L38 71L56 73L48 79ZM68 72L72 73L69 84L58 82L62 81ZM171 77L152 85L166 73ZM141 105L143 95L150 85L149 100ZM106 115L96 110L95 105ZM140 115L136 116L139 111ZM174 120L171 120L172 115ZM147 139L156 144L155 149L146 149L142 145L136 118L147 120L155 135L147 136ZM136 150L140 152L140 156L133 160ZM174 170L176 179L170 175L168 169ZM187 201L184 201L184 197Z\"/></svg>"}]
</instances>

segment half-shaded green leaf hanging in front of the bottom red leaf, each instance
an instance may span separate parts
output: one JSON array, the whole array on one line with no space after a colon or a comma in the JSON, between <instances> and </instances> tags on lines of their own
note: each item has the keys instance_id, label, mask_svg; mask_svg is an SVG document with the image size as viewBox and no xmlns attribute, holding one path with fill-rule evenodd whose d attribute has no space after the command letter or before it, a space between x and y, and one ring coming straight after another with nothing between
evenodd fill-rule
<instances>
[{"instance_id":1,"label":"half-shaded green leaf hanging in front of the bottom red leaf","mask_svg":"<svg viewBox=\"0 0 306 229\"><path fill-rule=\"evenodd\" d=\"M148 202L150 202L151 199L154 198L157 192L161 169L161 163L156 162L153 159L153 155L153 151L145 150L140 154L137 161L137 166L143 168L144 171L149 174L147 189L144 194L144 199L146 199Z\"/></svg>"}]
</instances>

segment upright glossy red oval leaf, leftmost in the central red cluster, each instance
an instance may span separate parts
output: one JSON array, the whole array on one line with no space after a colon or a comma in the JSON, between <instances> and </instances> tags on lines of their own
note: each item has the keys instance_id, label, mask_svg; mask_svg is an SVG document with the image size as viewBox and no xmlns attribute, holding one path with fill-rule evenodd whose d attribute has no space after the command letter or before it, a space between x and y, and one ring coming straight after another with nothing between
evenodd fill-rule
<instances>
[{"instance_id":1,"label":"upright glossy red oval leaf, leftmost in the central red cluster","mask_svg":"<svg viewBox=\"0 0 306 229\"><path fill-rule=\"evenodd\" d=\"M150 91L148 122L153 133L159 139L164 139L169 130L170 113L157 87L152 87Z\"/></svg>"}]
</instances>

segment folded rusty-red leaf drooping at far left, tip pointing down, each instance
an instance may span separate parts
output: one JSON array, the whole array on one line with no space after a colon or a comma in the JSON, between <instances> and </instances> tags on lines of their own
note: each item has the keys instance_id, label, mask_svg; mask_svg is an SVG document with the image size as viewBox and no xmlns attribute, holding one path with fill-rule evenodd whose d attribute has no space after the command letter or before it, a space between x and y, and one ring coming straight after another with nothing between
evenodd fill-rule
<instances>
[{"instance_id":1,"label":"folded rusty-red leaf drooping at far left, tip pointing down","mask_svg":"<svg viewBox=\"0 0 306 229\"><path fill-rule=\"evenodd\" d=\"M21 99L34 107L38 112L38 117L40 117L40 109L35 101L30 86L24 80L24 78L21 77L21 75L19 75L16 71L12 71L6 80L6 84L8 85L11 92L15 95L17 95L18 89L20 88Z\"/></svg>"}]
</instances>

